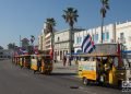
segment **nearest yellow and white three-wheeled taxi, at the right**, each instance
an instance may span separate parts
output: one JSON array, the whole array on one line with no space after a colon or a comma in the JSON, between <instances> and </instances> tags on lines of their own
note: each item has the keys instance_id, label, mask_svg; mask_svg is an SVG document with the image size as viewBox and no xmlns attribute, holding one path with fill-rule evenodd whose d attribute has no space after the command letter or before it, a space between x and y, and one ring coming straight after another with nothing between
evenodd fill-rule
<instances>
[{"instance_id":1,"label":"nearest yellow and white three-wheeled taxi, at the right","mask_svg":"<svg viewBox=\"0 0 131 94\"><path fill-rule=\"evenodd\" d=\"M96 82L117 85L119 83L118 55L90 54L81 57L86 57L85 61L79 62L79 75L84 84Z\"/></svg>"}]
</instances>

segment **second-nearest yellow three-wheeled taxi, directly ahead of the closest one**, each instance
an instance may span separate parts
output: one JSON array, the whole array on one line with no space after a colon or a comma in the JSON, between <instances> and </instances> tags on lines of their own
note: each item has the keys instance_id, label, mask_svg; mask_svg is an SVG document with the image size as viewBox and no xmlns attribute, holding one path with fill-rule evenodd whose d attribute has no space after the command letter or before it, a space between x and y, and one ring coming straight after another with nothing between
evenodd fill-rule
<instances>
[{"instance_id":1,"label":"second-nearest yellow three-wheeled taxi, directly ahead of the closest one","mask_svg":"<svg viewBox=\"0 0 131 94\"><path fill-rule=\"evenodd\" d=\"M52 60L50 55L32 55L31 56L31 69L45 74L50 74L52 71Z\"/></svg>"}]
</instances>

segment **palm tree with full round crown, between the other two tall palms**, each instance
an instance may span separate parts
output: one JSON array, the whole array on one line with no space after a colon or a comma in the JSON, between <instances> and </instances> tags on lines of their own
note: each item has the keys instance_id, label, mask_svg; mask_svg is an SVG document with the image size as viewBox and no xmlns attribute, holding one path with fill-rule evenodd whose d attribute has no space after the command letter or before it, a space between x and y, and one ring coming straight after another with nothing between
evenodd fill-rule
<instances>
[{"instance_id":1,"label":"palm tree with full round crown, between the other two tall palms","mask_svg":"<svg viewBox=\"0 0 131 94\"><path fill-rule=\"evenodd\" d=\"M62 17L66 20L67 23L69 23L70 26L70 54L72 52L72 32L73 31L73 25L74 22L78 22L78 10L75 10L74 8L67 8L67 10L63 10L64 14L62 15Z\"/></svg>"}]
</instances>

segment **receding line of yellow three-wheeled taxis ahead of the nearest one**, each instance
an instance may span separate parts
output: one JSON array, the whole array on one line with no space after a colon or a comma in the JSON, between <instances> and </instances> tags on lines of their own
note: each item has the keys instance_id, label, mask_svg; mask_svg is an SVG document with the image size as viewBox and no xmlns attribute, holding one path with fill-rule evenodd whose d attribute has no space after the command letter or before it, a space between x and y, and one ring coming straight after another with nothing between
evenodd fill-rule
<instances>
[{"instance_id":1,"label":"receding line of yellow three-wheeled taxis ahead of the nearest one","mask_svg":"<svg viewBox=\"0 0 131 94\"><path fill-rule=\"evenodd\" d=\"M49 55L20 55L12 58L12 62L21 68L28 68L45 74L52 71L52 60Z\"/></svg>"}]
</instances>

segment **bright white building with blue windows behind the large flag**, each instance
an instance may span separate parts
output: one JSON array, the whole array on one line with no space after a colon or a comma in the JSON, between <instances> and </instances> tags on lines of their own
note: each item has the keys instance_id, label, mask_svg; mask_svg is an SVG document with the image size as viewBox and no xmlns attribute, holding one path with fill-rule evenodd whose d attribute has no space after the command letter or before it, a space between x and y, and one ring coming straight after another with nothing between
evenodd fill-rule
<instances>
[{"instance_id":1,"label":"bright white building with blue windows behind the large flag","mask_svg":"<svg viewBox=\"0 0 131 94\"><path fill-rule=\"evenodd\" d=\"M74 33L74 52L81 52L81 46L82 42L85 38L87 34L92 36L92 39L94 40L95 44L102 43L102 31L100 26L90 28L87 31L80 31ZM109 24L103 27L103 43L115 43L116 37L115 37L115 25Z\"/></svg>"}]
</instances>

